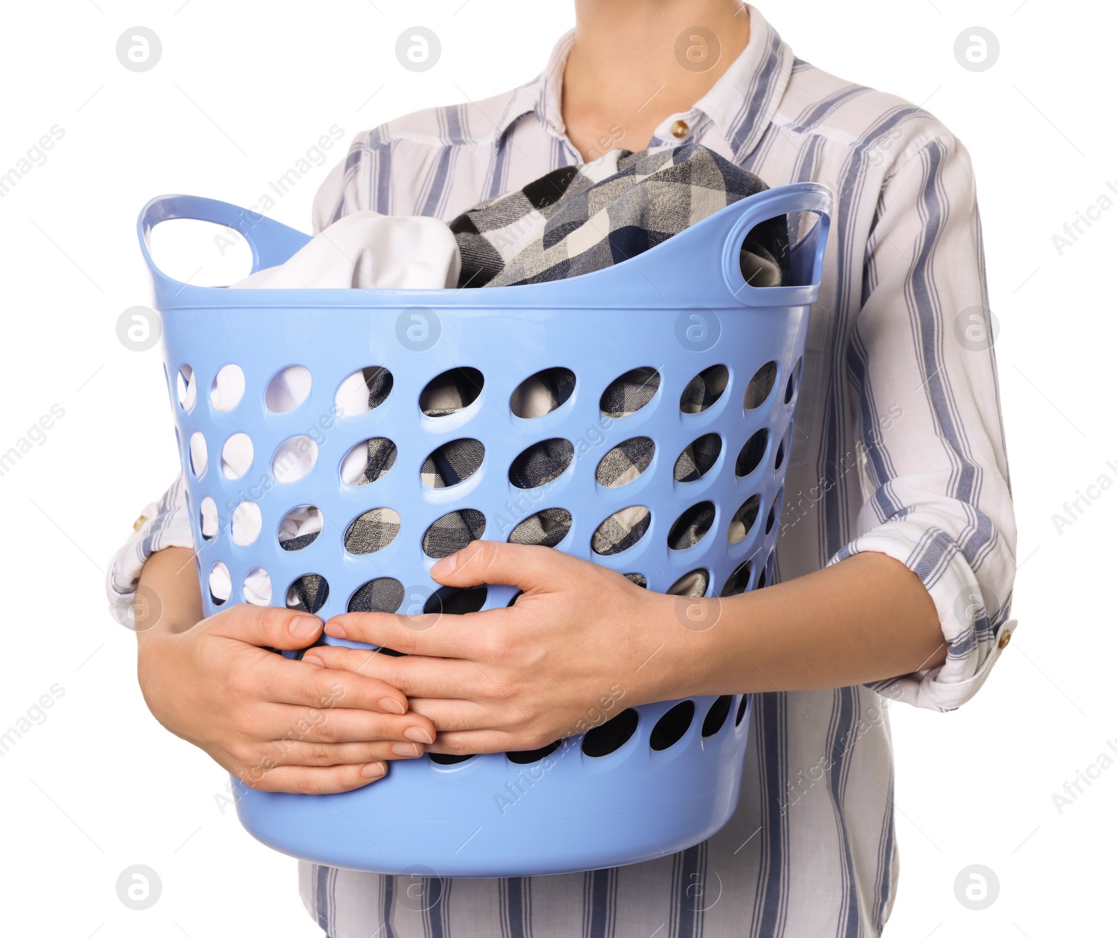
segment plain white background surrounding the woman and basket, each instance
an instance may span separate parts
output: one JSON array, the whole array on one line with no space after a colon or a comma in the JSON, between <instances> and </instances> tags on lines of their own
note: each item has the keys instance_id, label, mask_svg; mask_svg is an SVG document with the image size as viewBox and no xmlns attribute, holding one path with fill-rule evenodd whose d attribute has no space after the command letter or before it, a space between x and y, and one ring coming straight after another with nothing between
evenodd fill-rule
<instances>
[{"instance_id":1,"label":"plain white background surrounding the woman and basket","mask_svg":"<svg viewBox=\"0 0 1117 938\"><path fill-rule=\"evenodd\" d=\"M1081 6L762 7L800 57L925 103L970 149L1001 326L1021 627L962 710L891 710L901 875L889 936L1098 935L1113 934L1117 919L1117 765L1061 814L1052 802L1117 740L1117 641L1104 601L1115 579L1117 491L1061 532L1052 521L1099 475L1117 481L1117 211L1061 256L1052 244L1107 180L1117 184L1117 21L1108 4ZM572 4L51 0L4 4L3 22L0 173L51 125L65 136L0 199L0 451L51 405L65 416L0 477L0 582L10 599L0 731L51 685L64 689L47 720L0 756L0 931L318 936L297 897L295 861L254 842L232 809L222 813L214 796L225 774L147 713L135 638L106 612L108 558L176 472L159 351L130 351L115 332L124 309L150 302L135 217L162 192L251 205L337 124L344 140L330 163L271 212L308 229L314 191L353 134L531 78L573 23ZM159 65L142 74L115 56L117 37L136 25L163 44ZM441 61L424 74L405 72L393 54L413 25L442 41ZM1001 44L981 74L953 54L972 26ZM172 273L206 265L198 281L220 281L212 245L198 250ZM162 880L146 911L116 896L117 875L135 863ZM1000 881L984 911L954 894L958 871L973 863Z\"/></svg>"}]
</instances>

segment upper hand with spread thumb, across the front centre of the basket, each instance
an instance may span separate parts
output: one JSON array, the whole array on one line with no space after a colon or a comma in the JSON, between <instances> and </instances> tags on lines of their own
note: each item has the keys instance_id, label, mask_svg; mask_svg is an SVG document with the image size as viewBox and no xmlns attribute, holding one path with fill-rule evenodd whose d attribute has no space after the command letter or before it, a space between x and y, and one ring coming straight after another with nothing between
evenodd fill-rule
<instances>
[{"instance_id":1,"label":"upper hand with spread thumb, across the front centre of the basket","mask_svg":"<svg viewBox=\"0 0 1117 938\"><path fill-rule=\"evenodd\" d=\"M306 660L399 688L437 728L433 751L537 749L677 690L671 646L687 631L672 617L674 597L552 548L496 541L475 541L431 576L523 594L508 608L465 616L335 616L327 635L407 656L317 646Z\"/></svg>"}]
</instances>

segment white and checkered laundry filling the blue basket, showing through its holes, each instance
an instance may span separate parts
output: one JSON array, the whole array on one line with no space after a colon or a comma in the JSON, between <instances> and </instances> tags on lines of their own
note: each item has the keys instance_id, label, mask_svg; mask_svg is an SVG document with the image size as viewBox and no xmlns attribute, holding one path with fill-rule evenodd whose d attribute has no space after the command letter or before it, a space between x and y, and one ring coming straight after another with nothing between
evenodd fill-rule
<instances>
[{"instance_id":1,"label":"white and checkered laundry filling the blue basket, showing through its holes","mask_svg":"<svg viewBox=\"0 0 1117 938\"><path fill-rule=\"evenodd\" d=\"M235 284L239 290L376 288L429 290L495 287L543 283L600 271L628 260L667 240L688 226L727 205L764 191L767 186L714 151L698 145L660 146L639 152L612 150L592 163L554 170L523 189L486 199L466 210L449 225L433 218L384 216L362 211L345 216L313 238L289 260L259 271ZM742 274L753 286L779 286L789 269L786 219L757 225L741 249ZM305 369L285 369L273 379L268 394L273 409L284 410L285 401L305 397ZM346 413L378 407L391 390L391 375L380 368L365 369L338 392L338 406ZM221 373L210 390L214 406L222 399L239 399L242 376ZM718 387L720 382L720 387ZM700 413L716 400L724 377L716 370L696 377L682 395L687 413ZM516 392L513 413L519 417L543 416L561 407L573 389L573 375L562 368L540 372ZM601 410L623 417L647 406L659 390L653 368L637 368L607 388ZM429 385L420 399L428 417L445 417L469 406L477 398L472 369L458 368ZM269 407L271 407L269 402ZM251 443L233 437L221 453L222 470L233 477L247 471ZM643 472L655 453L646 437L627 440L611 449L596 467L598 483L621 485ZM695 440L677 457L675 479L690 481L703 475L720 454L720 438L712 435ZM192 452L192 458L193 458ZM366 485L386 473L395 462L395 444L384 438L366 440L342 461L342 481ZM199 454L199 458L202 458ZM509 470L510 482L521 489L536 489L553 482L571 465L574 452L562 439L536 443L525 449ZM474 439L457 439L431 453L420 477L431 489L443 489L472 475L484 459L484 447ZM200 471L200 470L199 470ZM384 514L388 511L390 514ZM385 547L399 531L399 515L376 509L375 518L351 525L345 547L353 553L371 553ZM693 517L676 523L669 533L674 549L696 543L713 523L713 504L696 505ZM258 515L240 519L246 542L259 534ZM206 512L202 512L203 531ZM596 553L611 556L640 539L650 523L646 508L631 508L607 519L593 534ZM255 524L255 530L254 530ZM216 528L216 520L213 521ZM509 540L553 547L570 530L569 512L546 509L524 520ZM451 511L436 521L423 538L423 551L432 558L447 557L479 538L484 517L468 509ZM280 544L295 550L317 537L321 513L285 520ZM286 539L285 539L286 536ZM703 571L671 588L679 595L701 595ZM316 612L325 601L322 586L304 577L292 586L286 603L292 608ZM231 596L232 584L220 565L210 577L214 601ZM271 584L261 570L249 572L245 597L268 605ZM361 590L350 605L354 612L394 610L399 597L392 590ZM395 604L395 605L392 605Z\"/></svg>"}]
</instances>

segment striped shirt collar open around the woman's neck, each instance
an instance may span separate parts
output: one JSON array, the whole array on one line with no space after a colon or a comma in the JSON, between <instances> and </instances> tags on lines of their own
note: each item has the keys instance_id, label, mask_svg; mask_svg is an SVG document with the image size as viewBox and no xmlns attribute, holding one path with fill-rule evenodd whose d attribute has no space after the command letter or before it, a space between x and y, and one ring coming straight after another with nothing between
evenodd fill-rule
<instances>
[{"instance_id":1,"label":"striped shirt collar open around the woman's neck","mask_svg":"<svg viewBox=\"0 0 1117 938\"><path fill-rule=\"evenodd\" d=\"M657 141L681 142L675 140L670 132L671 124L677 120L685 121L691 131L698 130L704 120L708 120L722 132L738 162L760 143L783 98L795 57L760 10L752 4L747 9L750 35L744 51L689 111L665 119L656 129ZM497 122L498 136L533 112L553 134L565 135L562 76L573 45L572 29L555 44L543 73L513 92Z\"/></svg>"}]
</instances>

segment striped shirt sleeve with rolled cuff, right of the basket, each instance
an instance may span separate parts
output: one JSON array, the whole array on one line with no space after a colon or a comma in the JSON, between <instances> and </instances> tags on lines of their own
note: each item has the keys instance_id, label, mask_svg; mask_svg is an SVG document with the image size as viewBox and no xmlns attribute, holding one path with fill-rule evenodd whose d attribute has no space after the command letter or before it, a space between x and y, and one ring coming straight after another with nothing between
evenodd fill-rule
<instances>
[{"instance_id":1,"label":"striped shirt sleeve with rolled cuff, right of the basket","mask_svg":"<svg viewBox=\"0 0 1117 938\"><path fill-rule=\"evenodd\" d=\"M847 368L865 504L831 562L877 551L906 565L938 612L946 663L872 686L953 710L1015 627L1009 485L970 155L953 136L886 179L867 245L865 301Z\"/></svg>"}]
</instances>

